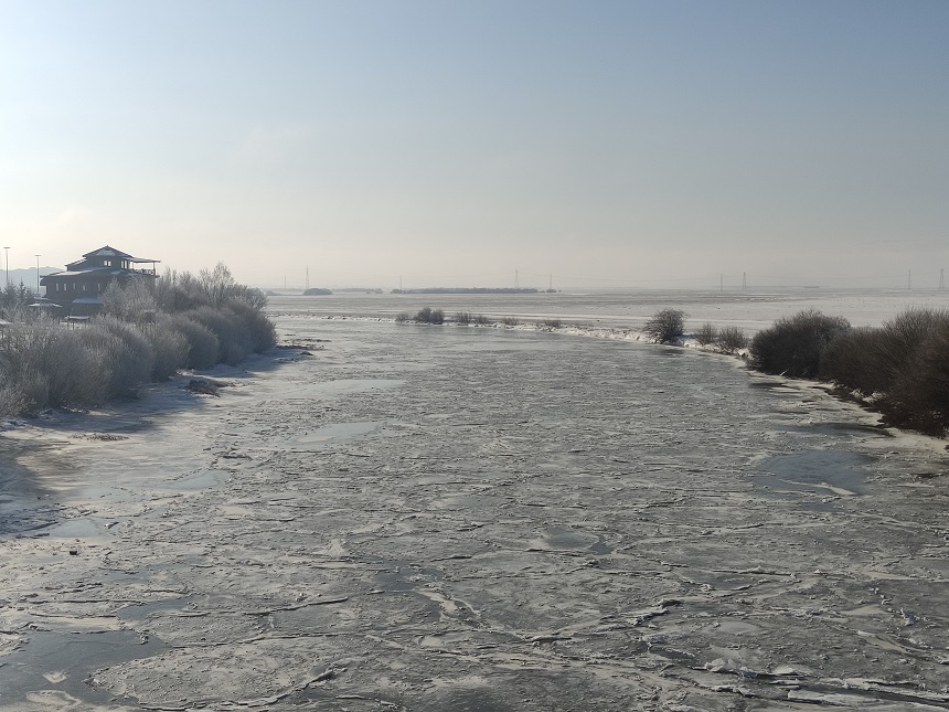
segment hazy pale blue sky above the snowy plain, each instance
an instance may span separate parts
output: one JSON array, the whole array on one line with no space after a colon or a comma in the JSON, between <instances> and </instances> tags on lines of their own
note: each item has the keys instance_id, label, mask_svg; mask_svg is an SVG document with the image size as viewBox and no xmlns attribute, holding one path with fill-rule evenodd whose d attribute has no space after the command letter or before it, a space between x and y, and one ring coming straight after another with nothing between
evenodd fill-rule
<instances>
[{"instance_id":1,"label":"hazy pale blue sky above the snowy plain","mask_svg":"<svg viewBox=\"0 0 949 712\"><path fill-rule=\"evenodd\" d=\"M935 286L947 38L945 0L0 0L0 246L262 286Z\"/></svg>"}]
</instances>

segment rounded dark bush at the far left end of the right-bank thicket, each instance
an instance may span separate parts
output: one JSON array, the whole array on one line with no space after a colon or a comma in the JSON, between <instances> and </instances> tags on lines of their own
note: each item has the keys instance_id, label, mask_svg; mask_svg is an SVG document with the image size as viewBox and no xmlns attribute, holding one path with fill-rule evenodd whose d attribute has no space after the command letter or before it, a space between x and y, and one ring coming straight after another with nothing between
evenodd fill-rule
<instances>
[{"instance_id":1,"label":"rounded dark bush at the far left end of the right-bank thicket","mask_svg":"<svg viewBox=\"0 0 949 712\"><path fill-rule=\"evenodd\" d=\"M828 344L850 328L843 317L828 317L814 309L783 317L755 334L751 365L765 373L817 378Z\"/></svg>"}]
</instances>

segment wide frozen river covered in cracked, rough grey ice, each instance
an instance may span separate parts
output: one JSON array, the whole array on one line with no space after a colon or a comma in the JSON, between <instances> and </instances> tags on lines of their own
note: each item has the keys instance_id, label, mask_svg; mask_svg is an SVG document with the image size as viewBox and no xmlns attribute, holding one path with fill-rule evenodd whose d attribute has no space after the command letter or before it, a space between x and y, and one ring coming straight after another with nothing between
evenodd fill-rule
<instances>
[{"instance_id":1,"label":"wide frozen river covered in cracked, rough grey ice","mask_svg":"<svg viewBox=\"0 0 949 712\"><path fill-rule=\"evenodd\" d=\"M309 304L220 397L3 434L0 709L949 709L941 443L724 357ZM590 304L550 315L678 306Z\"/></svg>"}]
</instances>

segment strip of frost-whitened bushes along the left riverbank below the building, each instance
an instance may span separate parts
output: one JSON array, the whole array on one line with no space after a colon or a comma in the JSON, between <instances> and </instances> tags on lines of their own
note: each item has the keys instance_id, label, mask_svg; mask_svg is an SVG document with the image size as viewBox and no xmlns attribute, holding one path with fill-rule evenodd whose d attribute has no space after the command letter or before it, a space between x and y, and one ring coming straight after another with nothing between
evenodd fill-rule
<instances>
[{"instance_id":1,"label":"strip of frost-whitened bushes along the left riverbank below the building","mask_svg":"<svg viewBox=\"0 0 949 712\"><path fill-rule=\"evenodd\" d=\"M198 276L169 270L153 288L114 283L102 312L76 328L13 321L0 337L0 416L102 405L180 369L235 364L275 344L265 305L218 264Z\"/></svg>"}]
</instances>

